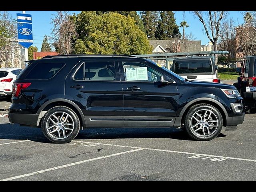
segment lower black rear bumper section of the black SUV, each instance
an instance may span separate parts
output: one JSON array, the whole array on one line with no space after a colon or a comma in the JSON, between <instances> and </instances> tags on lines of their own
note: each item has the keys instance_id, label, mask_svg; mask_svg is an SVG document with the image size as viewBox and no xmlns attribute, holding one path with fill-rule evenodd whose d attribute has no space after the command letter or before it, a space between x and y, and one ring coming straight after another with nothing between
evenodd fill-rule
<instances>
[{"instance_id":1,"label":"lower black rear bumper section of the black SUV","mask_svg":"<svg viewBox=\"0 0 256 192\"><path fill-rule=\"evenodd\" d=\"M17 114L8 113L10 123L18 123L37 127L37 119L39 115L36 114Z\"/></svg>"}]
</instances>

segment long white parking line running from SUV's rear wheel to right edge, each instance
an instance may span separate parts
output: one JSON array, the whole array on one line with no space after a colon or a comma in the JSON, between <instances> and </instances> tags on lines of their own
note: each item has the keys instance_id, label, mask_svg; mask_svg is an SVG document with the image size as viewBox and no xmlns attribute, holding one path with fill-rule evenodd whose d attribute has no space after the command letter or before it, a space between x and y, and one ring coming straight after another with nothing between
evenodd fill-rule
<instances>
[{"instance_id":1,"label":"long white parking line running from SUV's rear wheel to right edge","mask_svg":"<svg viewBox=\"0 0 256 192\"><path fill-rule=\"evenodd\" d=\"M75 141L75 142L78 142L78 141ZM84 141L79 141L79 142L84 142ZM87 142L87 141L84 142L84 143L92 143L92 144L100 144L100 145L116 146L116 147L127 147L127 148L140 148L140 149L154 150L154 151L162 151L162 152L171 152L171 153L179 153L179 154L199 155L199 156L208 156L208 157L215 157L215 158L225 158L225 159L233 159L233 160L242 160L242 161L256 162L256 160L254 160L254 159L235 158L235 157L225 157L225 156L218 156L218 155L208 155L208 154L191 153L191 152L182 152L182 151L173 151L173 150L163 150L163 149L154 149L154 148L144 148L144 147L133 147L133 146L124 146L124 145L104 144L104 143Z\"/></svg>"}]
</instances>

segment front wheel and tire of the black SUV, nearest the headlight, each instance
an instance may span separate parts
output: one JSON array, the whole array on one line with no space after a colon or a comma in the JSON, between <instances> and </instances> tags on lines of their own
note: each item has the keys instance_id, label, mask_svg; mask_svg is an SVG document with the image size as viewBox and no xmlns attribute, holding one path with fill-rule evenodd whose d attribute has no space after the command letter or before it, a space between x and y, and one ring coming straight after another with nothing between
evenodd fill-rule
<instances>
[{"instance_id":1,"label":"front wheel and tire of the black SUV, nearest the headlight","mask_svg":"<svg viewBox=\"0 0 256 192\"><path fill-rule=\"evenodd\" d=\"M196 112L201 117L198 116ZM204 118L204 114L208 119ZM193 116L196 117L197 120L195 120ZM195 126L196 124L198 125ZM196 104L188 110L188 113L185 116L184 125L186 127L186 132L191 138L199 141L208 141L220 134L223 126L223 118L219 110L214 106L210 104Z\"/></svg>"}]
</instances>

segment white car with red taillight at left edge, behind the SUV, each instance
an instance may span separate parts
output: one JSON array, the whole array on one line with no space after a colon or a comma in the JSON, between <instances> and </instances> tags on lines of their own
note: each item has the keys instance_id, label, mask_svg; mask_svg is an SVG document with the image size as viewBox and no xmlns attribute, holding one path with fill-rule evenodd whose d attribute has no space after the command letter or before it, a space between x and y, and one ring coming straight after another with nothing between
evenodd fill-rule
<instances>
[{"instance_id":1,"label":"white car with red taillight at left edge, behind the SUV","mask_svg":"<svg viewBox=\"0 0 256 192\"><path fill-rule=\"evenodd\" d=\"M0 68L0 97L12 96L12 84L22 68Z\"/></svg>"}]
</instances>

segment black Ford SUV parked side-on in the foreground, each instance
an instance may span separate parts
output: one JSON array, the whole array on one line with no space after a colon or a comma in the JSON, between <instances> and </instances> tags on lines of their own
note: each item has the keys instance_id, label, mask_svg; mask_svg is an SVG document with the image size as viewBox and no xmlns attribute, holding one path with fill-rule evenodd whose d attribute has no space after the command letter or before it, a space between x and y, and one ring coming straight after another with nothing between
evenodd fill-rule
<instances>
[{"instance_id":1,"label":"black Ford SUV parked side-on in the foreground","mask_svg":"<svg viewBox=\"0 0 256 192\"><path fill-rule=\"evenodd\" d=\"M22 71L12 96L9 121L41 127L54 143L92 127L176 127L211 140L244 121L234 86L191 82L125 55L46 56Z\"/></svg>"}]
</instances>

